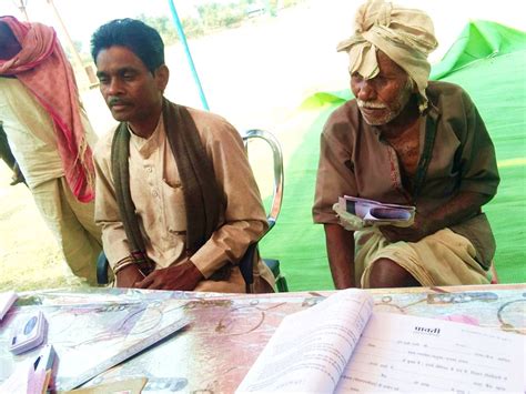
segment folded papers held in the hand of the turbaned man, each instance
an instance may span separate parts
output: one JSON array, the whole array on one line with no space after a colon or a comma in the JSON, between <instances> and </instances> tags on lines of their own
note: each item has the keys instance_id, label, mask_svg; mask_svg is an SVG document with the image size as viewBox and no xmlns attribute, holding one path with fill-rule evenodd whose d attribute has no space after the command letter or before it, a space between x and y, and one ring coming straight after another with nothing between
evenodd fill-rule
<instances>
[{"instance_id":1,"label":"folded papers held in the hand of the turbaned man","mask_svg":"<svg viewBox=\"0 0 526 394\"><path fill-rule=\"evenodd\" d=\"M350 195L338 198L335 210L358 216L364 225L392 224L401 228L413 224L416 211L412 205L386 204Z\"/></svg>"}]
</instances>

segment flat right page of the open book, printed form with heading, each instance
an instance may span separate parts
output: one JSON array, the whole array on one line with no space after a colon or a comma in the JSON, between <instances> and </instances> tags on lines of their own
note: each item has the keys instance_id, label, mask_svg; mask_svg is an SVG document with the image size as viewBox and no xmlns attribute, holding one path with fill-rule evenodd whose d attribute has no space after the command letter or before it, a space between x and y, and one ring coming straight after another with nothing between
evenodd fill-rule
<instances>
[{"instance_id":1,"label":"flat right page of the open book, printed form with heading","mask_svg":"<svg viewBox=\"0 0 526 394\"><path fill-rule=\"evenodd\" d=\"M336 392L523 392L525 343L467 324L374 313Z\"/></svg>"}]
</instances>

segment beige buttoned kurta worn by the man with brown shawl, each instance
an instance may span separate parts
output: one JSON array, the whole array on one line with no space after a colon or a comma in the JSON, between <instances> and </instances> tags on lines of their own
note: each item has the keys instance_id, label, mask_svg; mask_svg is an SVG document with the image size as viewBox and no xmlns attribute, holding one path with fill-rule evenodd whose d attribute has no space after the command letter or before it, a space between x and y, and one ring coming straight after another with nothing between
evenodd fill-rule
<instances>
[{"instance_id":1,"label":"beige buttoned kurta worn by the man with brown shawl","mask_svg":"<svg viewBox=\"0 0 526 394\"><path fill-rule=\"evenodd\" d=\"M193 109L189 111L211 158L226 205L224 212L221 212L218 230L192 255L192 262L203 276L210 277L224 264L236 263L249 244L261 238L266 230L266 216L237 131L218 115ZM110 265L114 266L130 254L130 250L111 174L112 139L113 132L101 139L94 158L95 221L102 226L104 251ZM191 218L186 218L181 179L162 117L149 139L131 133L129 164L131 195L149 257L158 269L184 262L188 257L186 221ZM254 274L256 282L261 275L273 285L272 273L261 261L256 264ZM244 291L244 283L240 280L242 277L234 273L231 281L235 283L231 286L226 284L206 290Z\"/></svg>"}]
</instances>

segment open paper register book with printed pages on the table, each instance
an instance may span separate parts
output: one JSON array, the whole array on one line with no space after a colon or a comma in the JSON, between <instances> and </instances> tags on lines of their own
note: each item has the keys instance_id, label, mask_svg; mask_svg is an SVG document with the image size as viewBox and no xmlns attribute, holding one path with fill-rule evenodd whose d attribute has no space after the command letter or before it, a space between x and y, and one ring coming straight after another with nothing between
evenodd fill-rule
<instances>
[{"instance_id":1,"label":"open paper register book with printed pages on the table","mask_svg":"<svg viewBox=\"0 0 526 394\"><path fill-rule=\"evenodd\" d=\"M236 393L524 391L524 336L372 311L344 290L286 316Z\"/></svg>"}]
</instances>

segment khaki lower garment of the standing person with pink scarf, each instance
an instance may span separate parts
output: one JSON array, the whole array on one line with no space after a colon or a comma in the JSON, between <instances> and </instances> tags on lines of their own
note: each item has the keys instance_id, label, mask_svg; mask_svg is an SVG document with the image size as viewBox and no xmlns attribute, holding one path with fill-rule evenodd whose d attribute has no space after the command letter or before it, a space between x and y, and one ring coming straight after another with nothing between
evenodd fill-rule
<instances>
[{"instance_id":1,"label":"khaki lower garment of the standing person with pink scarf","mask_svg":"<svg viewBox=\"0 0 526 394\"><path fill-rule=\"evenodd\" d=\"M44 182L31 192L73 274L97 285L95 263L102 242L93 219L94 203L79 202L63 176Z\"/></svg>"}]
</instances>

